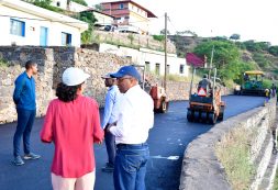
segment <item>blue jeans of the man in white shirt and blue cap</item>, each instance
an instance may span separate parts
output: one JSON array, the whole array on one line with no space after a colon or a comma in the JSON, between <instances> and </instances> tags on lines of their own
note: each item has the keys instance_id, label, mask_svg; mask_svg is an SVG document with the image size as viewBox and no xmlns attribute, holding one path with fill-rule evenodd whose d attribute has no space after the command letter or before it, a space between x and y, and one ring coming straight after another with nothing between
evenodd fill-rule
<instances>
[{"instance_id":1,"label":"blue jeans of the man in white shirt and blue cap","mask_svg":"<svg viewBox=\"0 0 278 190\"><path fill-rule=\"evenodd\" d=\"M146 143L118 145L114 165L115 190L145 190L146 165L149 150Z\"/></svg>"}]
</instances>

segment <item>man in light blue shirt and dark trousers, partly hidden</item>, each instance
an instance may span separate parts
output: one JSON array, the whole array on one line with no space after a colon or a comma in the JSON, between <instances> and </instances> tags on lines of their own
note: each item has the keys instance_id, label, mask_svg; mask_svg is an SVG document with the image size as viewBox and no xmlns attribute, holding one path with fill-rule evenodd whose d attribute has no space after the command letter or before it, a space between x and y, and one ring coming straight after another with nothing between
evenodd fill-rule
<instances>
[{"instance_id":1,"label":"man in light blue shirt and dark trousers, partly hidden","mask_svg":"<svg viewBox=\"0 0 278 190\"><path fill-rule=\"evenodd\" d=\"M102 168L102 171L112 172L114 169L114 158L115 158L115 137L112 133L108 132L107 126L115 123L118 121L119 112L119 101L121 93L116 86L116 79L110 77L110 74L102 77L105 79L105 87L108 87L108 92L105 96L104 114L102 121L102 127L104 128L104 139L108 153L108 163Z\"/></svg>"}]
</instances>

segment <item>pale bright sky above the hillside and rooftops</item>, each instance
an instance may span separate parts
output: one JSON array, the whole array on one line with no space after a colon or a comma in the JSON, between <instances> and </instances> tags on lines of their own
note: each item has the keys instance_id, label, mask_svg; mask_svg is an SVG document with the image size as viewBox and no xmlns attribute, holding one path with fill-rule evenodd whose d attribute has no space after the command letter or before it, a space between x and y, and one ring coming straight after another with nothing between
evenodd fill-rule
<instances>
[{"instance_id":1,"label":"pale bright sky above the hillside and rooftops","mask_svg":"<svg viewBox=\"0 0 278 190\"><path fill-rule=\"evenodd\" d=\"M110 0L86 0L89 5ZM113 0L111 0L113 1ZM151 33L164 29L169 16L170 34L192 31L198 36L240 34L241 41L270 42L278 45L277 0L134 0L157 15L151 21Z\"/></svg>"}]
</instances>

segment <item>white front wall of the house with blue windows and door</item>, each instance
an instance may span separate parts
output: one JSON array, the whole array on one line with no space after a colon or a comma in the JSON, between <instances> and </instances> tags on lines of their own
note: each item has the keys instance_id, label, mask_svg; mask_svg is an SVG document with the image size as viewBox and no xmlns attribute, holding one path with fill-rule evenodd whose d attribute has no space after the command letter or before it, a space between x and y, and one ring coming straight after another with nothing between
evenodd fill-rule
<instances>
[{"instance_id":1,"label":"white front wall of the house with blue windows and door","mask_svg":"<svg viewBox=\"0 0 278 190\"><path fill-rule=\"evenodd\" d=\"M80 32L79 29L63 24L59 22L40 21L44 20L36 15L14 10L4 5L0 5L2 15L16 15L15 20L25 22L25 36L18 36L10 34L10 18L0 16L0 45L40 45L41 26L48 29L48 46L62 46L62 32L71 34L71 45L80 46Z\"/></svg>"}]
</instances>

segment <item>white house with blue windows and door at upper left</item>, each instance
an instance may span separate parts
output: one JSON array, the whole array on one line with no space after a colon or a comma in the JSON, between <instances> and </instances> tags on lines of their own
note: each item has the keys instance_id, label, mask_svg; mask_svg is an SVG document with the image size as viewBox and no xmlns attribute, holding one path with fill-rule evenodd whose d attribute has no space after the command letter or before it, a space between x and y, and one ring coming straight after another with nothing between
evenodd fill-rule
<instances>
[{"instance_id":1,"label":"white house with blue windows and door at upper left","mask_svg":"<svg viewBox=\"0 0 278 190\"><path fill-rule=\"evenodd\" d=\"M20 0L0 0L0 45L80 46L88 24Z\"/></svg>"}]
</instances>

